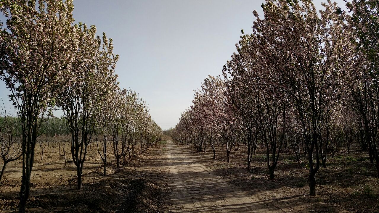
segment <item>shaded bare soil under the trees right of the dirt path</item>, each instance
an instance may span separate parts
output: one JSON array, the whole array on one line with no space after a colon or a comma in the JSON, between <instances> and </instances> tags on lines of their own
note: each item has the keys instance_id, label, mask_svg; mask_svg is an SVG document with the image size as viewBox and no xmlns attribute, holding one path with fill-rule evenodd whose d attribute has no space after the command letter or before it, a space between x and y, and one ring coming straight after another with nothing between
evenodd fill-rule
<instances>
[{"instance_id":1,"label":"shaded bare soil under the trees right of the dirt path","mask_svg":"<svg viewBox=\"0 0 379 213\"><path fill-rule=\"evenodd\" d=\"M238 151L233 148L230 163L226 163L226 149L221 146L216 147L216 160L213 160L211 147L204 153L177 142L175 144L182 147L182 152L197 156L196 163L207 166L263 205L275 204L284 212L379 212L376 165L370 163L368 154L360 151L359 147L354 147L349 155L341 148L334 158L328 158L328 168L320 168L316 174L318 195L312 197L307 195L307 157L303 156L301 162L297 162L291 150L287 154L281 153L275 179L268 179L264 149L257 149L252 169L247 171L247 148L243 144Z\"/></svg>"}]
</instances>

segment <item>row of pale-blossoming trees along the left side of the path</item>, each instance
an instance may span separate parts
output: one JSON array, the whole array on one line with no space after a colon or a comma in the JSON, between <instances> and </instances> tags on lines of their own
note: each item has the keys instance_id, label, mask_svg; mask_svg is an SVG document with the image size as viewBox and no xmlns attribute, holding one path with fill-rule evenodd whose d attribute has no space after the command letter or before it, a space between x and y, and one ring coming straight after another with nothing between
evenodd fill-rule
<instances>
[{"instance_id":1,"label":"row of pale-blossoming trees along the left side of the path","mask_svg":"<svg viewBox=\"0 0 379 213\"><path fill-rule=\"evenodd\" d=\"M119 56L113 53L112 39L105 33L97 36L94 25L75 24L73 9L72 0L0 0L7 19L5 25L0 22L0 78L10 91L21 129L19 212L25 212L30 193L37 138L55 108L64 112L78 189L96 130L112 132L117 156L118 133L127 138L138 132L145 148L161 135L144 103L133 100L135 92L119 89L114 74Z\"/></svg>"}]
</instances>

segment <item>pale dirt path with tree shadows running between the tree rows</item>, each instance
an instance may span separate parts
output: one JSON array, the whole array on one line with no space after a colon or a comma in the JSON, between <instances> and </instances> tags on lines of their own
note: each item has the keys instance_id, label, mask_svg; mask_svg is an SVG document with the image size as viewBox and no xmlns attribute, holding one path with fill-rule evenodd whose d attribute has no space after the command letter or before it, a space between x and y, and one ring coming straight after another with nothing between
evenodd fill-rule
<instances>
[{"instance_id":1,"label":"pale dirt path with tree shadows running between the tree rows","mask_svg":"<svg viewBox=\"0 0 379 213\"><path fill-rule=\"evenodd\" d=\"M166 147L164 170L169 170L167 174L172 185L170 212L289 212L275 205L269 207L268 203L238 190L226 179L197 163L196 155L186 154L171 140Z\"/></svg>"}]
</instances>

